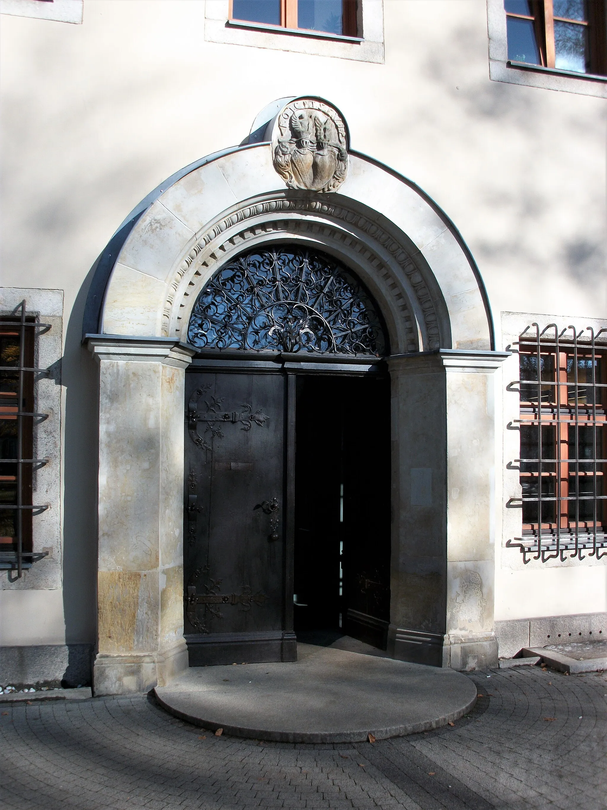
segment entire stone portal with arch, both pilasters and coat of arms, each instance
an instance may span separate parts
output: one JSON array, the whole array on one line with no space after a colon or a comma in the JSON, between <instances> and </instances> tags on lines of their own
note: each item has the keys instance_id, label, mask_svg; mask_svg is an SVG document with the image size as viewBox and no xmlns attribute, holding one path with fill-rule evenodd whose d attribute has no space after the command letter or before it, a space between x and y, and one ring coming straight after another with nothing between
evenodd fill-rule
<instances>
[{"instance_id":1,"label":"entire stone portal with arch, both pilasters and coat of arms","mask_svg":"<svg viewBox=\"0 0 607 810\"><path fill-rule=\"evenodd\" d=\"M100 363L96 693L149 689L187 666L183 382L194 353L187 325L225 262L277 242L333 255L368 289L387 326L389 649L458 668L474 656L495 658L490 375L503 354L493 351L478 269L422 190L350 149L346 123L329 102L282 100L274 113L265 129L256 121L252 140L261 143L210 156L149 195L97 264L84 318ZM316 172L313 184L323 190L306 187L299 154L326 173L319 180ZM478 573L485 612L468 621L456 583L469 570Z\"/></svg>"}]
</instances>

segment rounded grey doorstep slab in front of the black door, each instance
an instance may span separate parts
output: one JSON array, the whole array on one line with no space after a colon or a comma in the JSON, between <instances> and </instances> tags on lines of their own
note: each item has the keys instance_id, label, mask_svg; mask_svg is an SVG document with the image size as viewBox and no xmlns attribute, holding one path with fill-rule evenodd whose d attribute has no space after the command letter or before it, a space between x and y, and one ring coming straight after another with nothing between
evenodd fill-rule
<instances>
[{"instance_id":1,"label":"rounded grey doorstep slab in front of the black door","mask_svg":"<svg viewBox=\"0 0 607 810\"><path fill-rule=\"evenodd\" d=\"M191 667L156 687L161 706L229 735L288 743L346 743L428 731L477 699L467 676L298 643L294 663Z\"/></svg>"}]
</instances>

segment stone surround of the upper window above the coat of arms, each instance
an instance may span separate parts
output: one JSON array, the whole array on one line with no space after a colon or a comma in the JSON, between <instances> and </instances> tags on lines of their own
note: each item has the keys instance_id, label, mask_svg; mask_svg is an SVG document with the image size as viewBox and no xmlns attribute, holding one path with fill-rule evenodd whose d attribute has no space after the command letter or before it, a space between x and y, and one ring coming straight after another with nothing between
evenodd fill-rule
<instances>
[{"instance_id":1,"label":"stone surround of the upper window above the coat of arms","mask_svg":"<svg viewBox=\"0 0 607 810\"><path fill-rule=\"evenodd\" d=\"M229 0L206 0L205 40L224 45L248 45L253 48L383 64L384 0L359 0L359 4L359 34L362 37L298 31L231 20Z\"/></svg>"}]
</instances>

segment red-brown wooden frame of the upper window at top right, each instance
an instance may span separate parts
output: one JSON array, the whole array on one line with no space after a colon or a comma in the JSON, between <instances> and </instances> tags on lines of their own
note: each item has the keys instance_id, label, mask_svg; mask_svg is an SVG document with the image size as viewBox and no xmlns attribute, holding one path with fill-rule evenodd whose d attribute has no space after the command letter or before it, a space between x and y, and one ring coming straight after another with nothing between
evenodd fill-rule
<instances>
[{"instance_id":1,"label":"red-brown wooden frame of the upper window at top right","mask_svg":"<svg viewBox=\"0 0 607 810\"><path fill-rule=\"evenodd\" d=\"M596 75L607 74L607 46L605 45L605 3L599 0L589 0L588 20L567 19L554 16L553 0L529 0L532 15L506 12L506 17L512 19L529 19L533 21L536 32L537 49L540 52L541 67L557 70L555 66L556 52L554 48L554 20L563 23L575 23L588 28L588 43L590 47L590 72ZM579 74L583 76L584 73Z\"/></svg>"}]
</instances>

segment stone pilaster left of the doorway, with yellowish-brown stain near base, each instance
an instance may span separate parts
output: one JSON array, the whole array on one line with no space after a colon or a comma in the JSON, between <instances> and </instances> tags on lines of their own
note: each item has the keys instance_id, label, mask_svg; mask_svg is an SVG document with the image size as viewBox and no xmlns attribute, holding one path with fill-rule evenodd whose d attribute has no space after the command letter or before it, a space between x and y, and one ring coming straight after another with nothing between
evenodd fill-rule
<instances>
[{"instance_id":1,"label":"stone pilaster left of the doorway, with yellowish-brown stain near base","mask_svg":"<svg viewBox=\"0 0 607 810\"><path fill-rule=\"evenodd\" d=\"M96 695L143 692L188 666L183 637L185 368L172 339L91 335L99 364Z\"/></svg>"}]
</instances>

